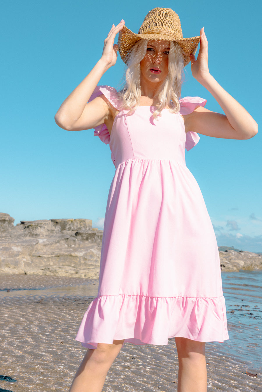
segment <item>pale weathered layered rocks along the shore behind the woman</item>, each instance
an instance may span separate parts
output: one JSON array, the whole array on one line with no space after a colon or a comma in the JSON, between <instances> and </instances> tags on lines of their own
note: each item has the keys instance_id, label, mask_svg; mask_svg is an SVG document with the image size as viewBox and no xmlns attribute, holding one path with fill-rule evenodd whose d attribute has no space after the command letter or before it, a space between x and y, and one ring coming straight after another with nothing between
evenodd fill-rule
<instances>
[{"instance_id":1,"label":"pale weathered layered rocks along the shore behind the woman","mask_svg":"<svg viewBox=\"0 0 262 392\"><path fill-rule=\"evenodd\" d=\"M0 213L0 274L97 279L103 230L88 219L21 221ZM262 269L262 255L220 251L222 271Z\"/></svg>"}]
</instances>

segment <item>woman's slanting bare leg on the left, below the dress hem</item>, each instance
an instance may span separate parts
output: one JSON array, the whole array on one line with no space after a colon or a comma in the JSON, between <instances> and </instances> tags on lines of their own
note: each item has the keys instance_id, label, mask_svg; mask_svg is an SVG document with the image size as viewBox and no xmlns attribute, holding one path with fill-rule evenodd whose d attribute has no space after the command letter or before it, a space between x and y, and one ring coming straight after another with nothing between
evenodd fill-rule
<instances>
[{"instance_id":1,"label":"woman's slanting bare leg on the left, below the dress hem","mask_svg":"<svg viewBox=\"0 0 262 392\"><path fill-rule=\"evenodd\" d=\"M123 343L124 340L114 340L113 344L98 343L95 350L88 349L69 392L101 392L106 374Z\"/></svg>"}]
</instances>

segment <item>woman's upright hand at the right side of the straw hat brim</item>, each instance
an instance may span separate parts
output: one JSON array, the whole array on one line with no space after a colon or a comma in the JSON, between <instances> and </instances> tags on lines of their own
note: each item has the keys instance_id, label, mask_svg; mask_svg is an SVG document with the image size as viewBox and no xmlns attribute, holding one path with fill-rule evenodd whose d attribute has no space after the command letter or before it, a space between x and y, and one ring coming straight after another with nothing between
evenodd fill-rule
<instances>
[{"instance_id":1,"label":"woman's upright hand at the right side of the straw hat brim","mask_svg":"<svg viewBox=\"0 0 262 392\"><path fill-rule=\"evenodd\" d=\"M190 60L193 77L198 82L203 83L203 81L210 76L208 69L207 37L205 35L204 27L200 30L200 49L198 57L196 59L194 54L191 54Z\"/></svg>"}]
</instances>

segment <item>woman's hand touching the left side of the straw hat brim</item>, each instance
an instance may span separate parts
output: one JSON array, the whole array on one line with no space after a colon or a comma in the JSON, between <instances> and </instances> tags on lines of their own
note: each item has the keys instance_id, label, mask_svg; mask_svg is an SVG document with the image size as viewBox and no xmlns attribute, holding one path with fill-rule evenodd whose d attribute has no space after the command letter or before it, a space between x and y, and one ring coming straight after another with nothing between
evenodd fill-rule
<instances>
[{"instance_id":1,"label":"woman's hand touching the left side of the straw hat brim","mask_svg":"<svg viewBox=\"0 0 262 392\"><path fill-rule=\"evenodd\" d=\"M101 60L103 60L106 63L106 66L108 68L112 67L112 65L115 65L116 60L117 60L117 50L118 50L118 45L115 44L115 36L116 34L119 33L120 30L123 29L125 24L125 20L121 20L121 22L118 25L112 25L111 30L108 33L108 36L104 40L104 48L103 48L103 53Z\"/></svg>"}]
</instances>

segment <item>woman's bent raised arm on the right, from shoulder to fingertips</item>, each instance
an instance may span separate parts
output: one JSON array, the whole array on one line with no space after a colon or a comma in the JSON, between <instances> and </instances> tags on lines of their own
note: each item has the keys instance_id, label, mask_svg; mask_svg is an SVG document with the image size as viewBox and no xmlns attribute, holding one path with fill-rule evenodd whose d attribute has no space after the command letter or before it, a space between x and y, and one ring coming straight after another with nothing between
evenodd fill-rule
<instances>
[{"instance_id":1,"label":"woman's bent raised arm on the right, from shoulder to fingertips","mask_svg":"<svg viewBox=\"0 0 262 392\"><path fill-rule=\"evenodd\" d=\"M253 117L229 95L211 76L208 69L207 37L200 31L200 50L197 59L191 55L192 75L216 99L225 115L198 107L184 116L185 130L225 139L249 139L255 136L258 125Z\"/></svg>"}]
</instances>

